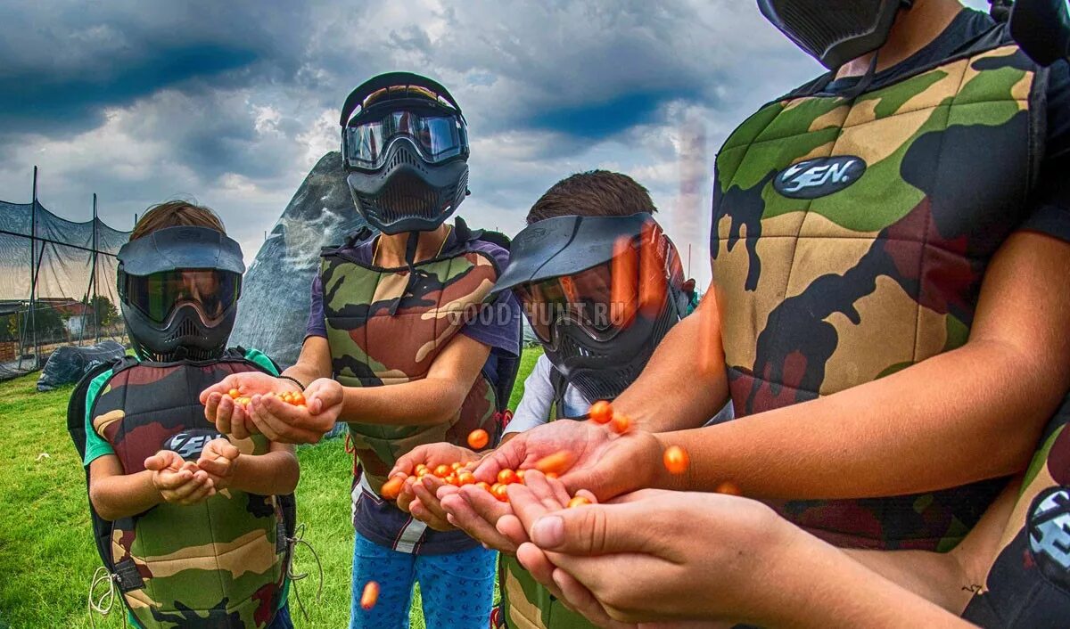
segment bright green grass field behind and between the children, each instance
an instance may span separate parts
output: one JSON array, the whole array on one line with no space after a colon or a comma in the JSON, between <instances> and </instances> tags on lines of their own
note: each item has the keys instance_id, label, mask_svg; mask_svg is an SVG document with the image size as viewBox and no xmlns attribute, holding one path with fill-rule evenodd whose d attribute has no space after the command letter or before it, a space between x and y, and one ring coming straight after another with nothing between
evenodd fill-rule
<instances>
[{"instance_id":1,"label":"bright green grass field behind and between the children","mask_svg":"<svg viewBox=\"0 0 1070 629\"><path fill-rule=\"evenodd\" d=\"M510 408L523 395L523 380L538 350L525 350ZM87 594L101 565L92 543L86 478L66 433L71 387L36 393L36 374L0 383L0 629L89 628ZM353 527L349 487L352 460L341 440L301 447L299 521L323 564L323 596L315 602L315 578L297 584L308 611L297 627L337 629L349 620ZM296 570L315 571L307 551ZM117 601L117 610L118 601ZM413 627L423 629L418 598ZM122 627L120 613L96 618L96 627Z\"/></svg>"}]
</instances>

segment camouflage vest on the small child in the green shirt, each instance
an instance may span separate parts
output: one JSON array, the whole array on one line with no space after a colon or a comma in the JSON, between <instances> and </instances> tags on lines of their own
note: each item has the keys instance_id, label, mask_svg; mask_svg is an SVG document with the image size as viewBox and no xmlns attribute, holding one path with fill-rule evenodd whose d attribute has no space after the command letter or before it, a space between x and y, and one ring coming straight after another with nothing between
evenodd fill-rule
<instances>
[{"instance_id":1,"label":"camouflage vest on the small child in the green shirt","mask_svg":"<svg viewBox=\"0 0 1070 629\"><path fill-rule=\"evenodd\" d=\"M221 438L204 418L200 392L231 373L260 370L241 358L139 363L117 369L93 402L93 430L124 474L171 449L196 461ZM234 440L242 454L268 452L261 435ZM160 503L111 525L112 572L144 629L261 629L285 602L289 552L276 496L223 490L193 506Z\"/></svg>"}]
</instances>

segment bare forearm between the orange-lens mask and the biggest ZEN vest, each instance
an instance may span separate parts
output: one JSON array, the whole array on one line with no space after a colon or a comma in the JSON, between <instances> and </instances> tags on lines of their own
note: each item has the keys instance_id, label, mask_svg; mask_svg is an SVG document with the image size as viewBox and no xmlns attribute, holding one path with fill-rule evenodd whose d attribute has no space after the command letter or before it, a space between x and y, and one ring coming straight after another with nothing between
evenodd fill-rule
<instances>
[{"instance_id":1,"label":"bare forearm between the orange-lens mask and the biggest ZEN vest","mask_svg":"<svg viewBox=\"0 0 1070 629\"><path fill-rule=\"evenodd\" d=\"M704 308L716 309L716 302L704 300L698 311L669 331L642 374L613 402L615 410L658 432L698 428L724 405L729 390L720 347L700 342ZM700 369L708 358L705 352L718 354L709 371Z\"/></svg>"}]
</instances>

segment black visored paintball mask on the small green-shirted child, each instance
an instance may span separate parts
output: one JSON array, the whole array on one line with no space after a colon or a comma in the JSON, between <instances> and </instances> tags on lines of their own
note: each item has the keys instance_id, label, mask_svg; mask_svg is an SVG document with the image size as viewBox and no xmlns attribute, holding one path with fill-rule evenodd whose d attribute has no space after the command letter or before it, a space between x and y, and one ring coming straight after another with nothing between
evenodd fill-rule
<instances>
[{"instance_id":1,"label":"black visored paintball mask on the small green-shirted child","mask_svg":"<svg viewBox=\"0 0 1070 629\"><path fill-rule=\"evenodd\" d=\"M123 318L141 358L223 354L245 272L236 242L207 227L170 227L126 243L118 257Z\"/></svg>"}]
</instances>

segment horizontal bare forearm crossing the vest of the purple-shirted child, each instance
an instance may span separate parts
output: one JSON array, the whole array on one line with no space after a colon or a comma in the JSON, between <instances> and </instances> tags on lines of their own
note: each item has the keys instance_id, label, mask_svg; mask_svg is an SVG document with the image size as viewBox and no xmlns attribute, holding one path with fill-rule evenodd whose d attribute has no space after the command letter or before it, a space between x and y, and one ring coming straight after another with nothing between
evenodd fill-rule
<instances>
[{"instance_id":1,"label":"horizontal bare forearm crossing the vest of the purple-shirted child","mask_svg":"<svg viewBox=\"0 0 1070 629\"><path fill-rule=\"evenodd\" d=\"M376 387L346 387L340 421L428 426L449 421L461 408L456 382L425 378Z\"/></svg>"}]
</instances>

